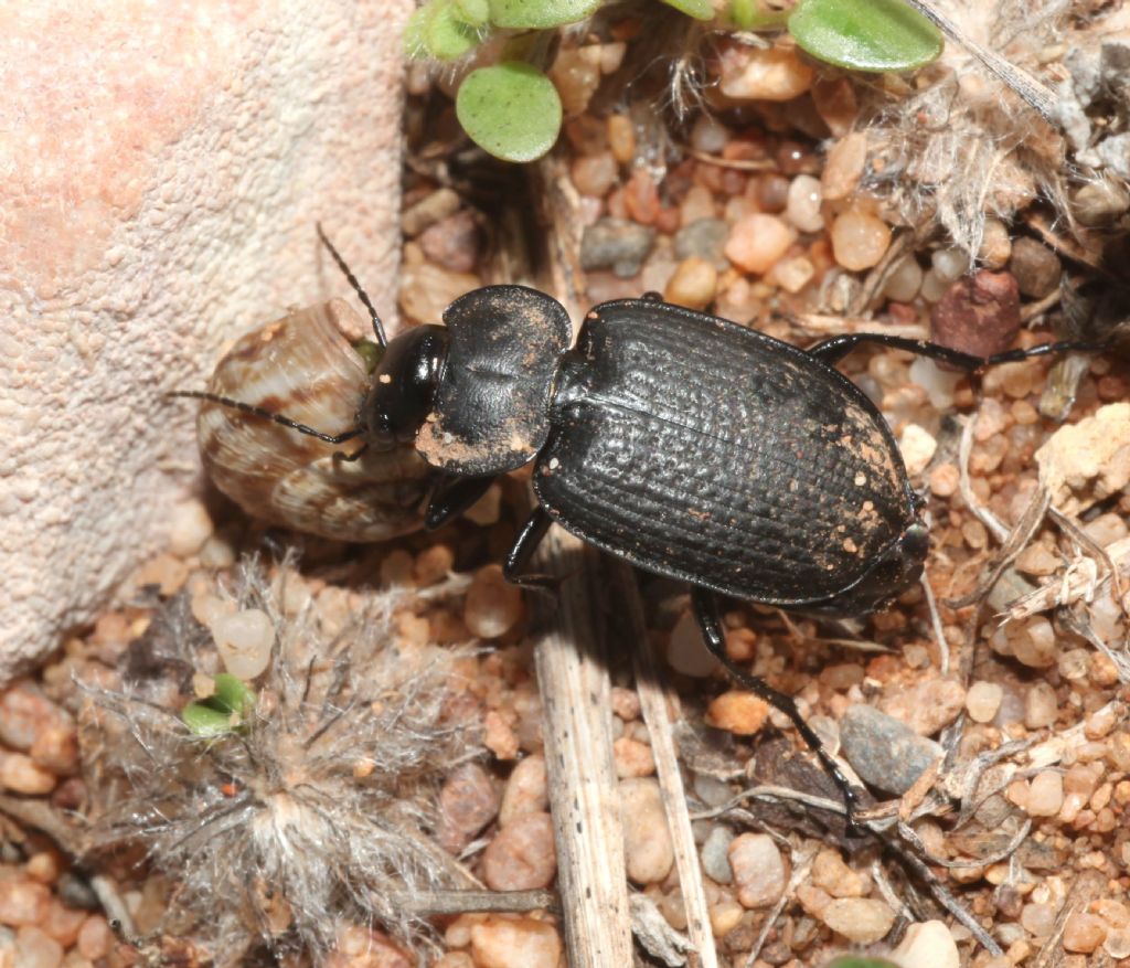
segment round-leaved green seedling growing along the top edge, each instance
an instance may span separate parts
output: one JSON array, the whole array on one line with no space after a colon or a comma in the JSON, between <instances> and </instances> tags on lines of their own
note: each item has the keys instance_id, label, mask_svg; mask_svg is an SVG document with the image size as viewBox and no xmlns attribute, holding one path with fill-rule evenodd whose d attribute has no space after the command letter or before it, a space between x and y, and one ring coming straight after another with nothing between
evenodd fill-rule
<instances>
[{"instance_id":1,"label":"round-leaved green seedling growing along the top edge","mask_svg":"<svg viewBox=\"0 0 1130 968\"><path fill-rule=\"evenodd\" d=\"M788 27L811 57L864 71L914 70L941 52L941 34L903 0L798 0L791 11L765 0L731 0L720 15L711 0L662 0L723 29ZM408 21L409 57L458 60L496 31L553 31L592 16L602 0L428 0ZM538 35L527 35L538 36ZM557 140L562 104L546 74L530 60L547 44L514 38L499 63L464 78L455 114L480 148L507 162L532 162ZM523 52L524 49L524 52Z\"/></svg>"}]
</instances>

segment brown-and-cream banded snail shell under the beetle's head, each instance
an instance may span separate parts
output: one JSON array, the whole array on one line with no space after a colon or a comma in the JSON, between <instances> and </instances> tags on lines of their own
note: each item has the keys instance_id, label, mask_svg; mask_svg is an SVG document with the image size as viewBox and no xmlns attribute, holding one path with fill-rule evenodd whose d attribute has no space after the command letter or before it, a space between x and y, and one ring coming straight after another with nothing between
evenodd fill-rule
<instances>
[{"instance_id":1,"label":"brown-and-cream banded snail shell under the beetle's head","mask_svg":"<svg viewBox=\"0 0 1130 968\"><path fill-rule=\"evenodd\" d=\"M212 394L262 407L328 434L356 425L368 388L344 331L364 322L348 303L295 310L241 337L217 364ZM334 460L333 446L232 407L205 401L197 420L205 468L254 518L322 537L374 542L423 526L435 472L411 444Z\"/></svg>"}]
</instances>

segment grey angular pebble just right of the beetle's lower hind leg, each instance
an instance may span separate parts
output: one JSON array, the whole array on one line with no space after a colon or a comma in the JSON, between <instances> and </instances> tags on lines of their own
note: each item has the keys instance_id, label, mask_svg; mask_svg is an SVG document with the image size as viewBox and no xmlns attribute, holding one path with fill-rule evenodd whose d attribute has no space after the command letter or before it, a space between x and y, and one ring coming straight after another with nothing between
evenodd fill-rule
<instances>
[{"instance_id":1,"label":"grey angular pebble just right of the beetle's lower hind leg","mask_svg":"<svg viewBox=\"0 0 1130 968\"><path fill-rule=\"evenodd\" d=\"M898 796L942 754L932 740L862 703L847 707L840 741L844 757L863 780Z\"/></svg>"}]
</instances>

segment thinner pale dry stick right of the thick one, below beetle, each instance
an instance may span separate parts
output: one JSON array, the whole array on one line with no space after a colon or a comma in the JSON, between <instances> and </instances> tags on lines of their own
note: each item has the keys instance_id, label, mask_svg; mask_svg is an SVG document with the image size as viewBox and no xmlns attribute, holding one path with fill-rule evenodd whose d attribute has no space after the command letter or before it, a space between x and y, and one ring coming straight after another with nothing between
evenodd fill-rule
<instances>
[{"instance_id":1,"label":"thinner pale dry stick right of the thick one, below beetle","mask_svg":"<svg viewBox=\"0 0 1130 968\"><path fill-rule=\"evenodd\" d=\"M632 569L624 562L610 562L611 596L623 610L629 641L634 642L632 660L635 671L640 708L651 735L651 752L655 760L655 773L663 796L667 826L675 850L675 866L679 872L679 889L687 916L687 935L697 952L701 968L718 968L718 952L714 950L714 933L711 930L710 908L703 887L703 873L698 864L694 831L690 829L690 813L687 811L687 795L683 788L683 773L675 752L671 717L667 700L670 692L655 665L647 641L647 630L643 620L643 607L636 589Z\"/></svg>"}]
</instances>

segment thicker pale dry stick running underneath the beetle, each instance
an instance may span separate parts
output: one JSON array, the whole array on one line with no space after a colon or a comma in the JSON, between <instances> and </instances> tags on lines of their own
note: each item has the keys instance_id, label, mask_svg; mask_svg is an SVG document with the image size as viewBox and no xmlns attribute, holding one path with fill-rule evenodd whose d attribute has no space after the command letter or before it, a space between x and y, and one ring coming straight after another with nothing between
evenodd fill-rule
<instances>
[{"instance_id":1,"label":"thicker pale dry stick running underneath the beetle","mask_svg":"<svg viewBox=\"0 0 1130 968\"><path fill-rule=\"evenodd\" d=\"M536 176L553 289L577 319L579 197L559 158L545 158ZM541 547L538 571L565 574L584 562L591 572L596 565L596 553L560 528L550 528ZM632 909L612 763L611 684L592 628L594 589L583 571L574 570L554 598L553 603L533 599L544 629L536 638L533 658L544 707L565 948L571 968L632 965Z\"/></svg>"}]
</instances>

